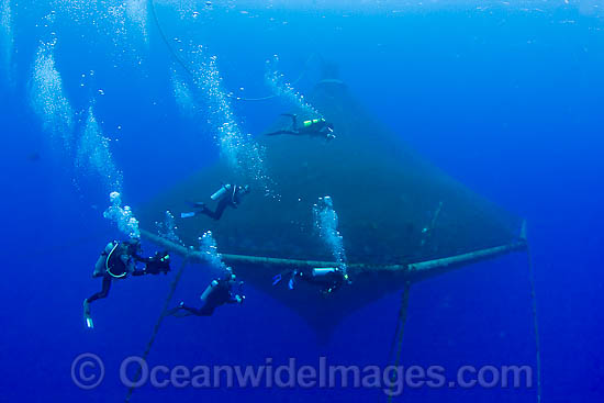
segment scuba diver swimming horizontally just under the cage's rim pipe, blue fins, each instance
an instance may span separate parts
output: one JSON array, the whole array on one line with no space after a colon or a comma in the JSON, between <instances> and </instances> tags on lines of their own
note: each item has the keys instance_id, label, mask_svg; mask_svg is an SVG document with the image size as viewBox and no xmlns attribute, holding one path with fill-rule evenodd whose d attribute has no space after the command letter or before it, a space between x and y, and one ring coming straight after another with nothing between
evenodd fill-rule
<instances>
[{"instance_id":1,"label":"scuba diver swimming horizontally just under the cage's rim pipe, blue fins","mask_svg":"<svg viewBox=\"0 0 604 403\"><path fill-rule=\"evenodd\" d=\"M288 288L293 290L298 280L305 281L310 284L320 286L321 293L328 295L338 290L344 283L350 283L346 271L338 267L314 268L314 269L294 269L286 270L272 278L272 286L277 286L283 277L288 276Z\"/></svg>"}]
</instances>

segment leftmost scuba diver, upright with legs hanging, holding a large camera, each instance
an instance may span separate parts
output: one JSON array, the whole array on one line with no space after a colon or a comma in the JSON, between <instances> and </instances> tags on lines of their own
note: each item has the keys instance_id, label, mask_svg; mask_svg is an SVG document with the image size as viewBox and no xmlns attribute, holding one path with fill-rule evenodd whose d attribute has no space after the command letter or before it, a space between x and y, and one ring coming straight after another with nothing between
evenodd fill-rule
<instances>
[{"instance_id":1,"label":"leftmost scuba diver, upright with legs hanging, holding a large camera","mask_svg":"<svg viewBox=\"0 0 604 403\"><path fill-rule=\"evenodd\" d=\"M123 242L110 242L99 256L94 265L93 278L102 277L101 291L83 300L83 318L89 328L93 328L90 316L90 304L97 300L107 298L113 279L125 279L128 275L167 275L170 271L170 256L167 253L155 253L153 257L141 257L141 242L127 239ZM143 269L136 267L136 262L145 264Z\"/></svg>"}]
</instances>

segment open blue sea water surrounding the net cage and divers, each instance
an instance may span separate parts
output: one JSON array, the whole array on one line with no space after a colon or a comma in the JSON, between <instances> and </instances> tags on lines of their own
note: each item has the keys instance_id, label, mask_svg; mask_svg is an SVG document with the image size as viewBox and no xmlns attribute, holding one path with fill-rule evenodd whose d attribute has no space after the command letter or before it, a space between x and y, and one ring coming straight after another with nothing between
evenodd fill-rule
<instances>
[{"instance_id":1,"label":"open blue sea water surrounding the net cage and divers","mask_svg":"<svg viewBox=\"0 0 604 403\"><path fill-rule=\"evenodd\" d=\"M0 396L7 402L123 401L120 362L143 352L169 279L114 284L110 298L93 307L97 328L83 327L81 301L99 287L90 278L93 264L107 240L120 234L102 217L109 192L99 178L74 166L72 155L44 130L32 108L40 42L57 38L54 58L75 112L76 132L81 132L92 104L103 135L112 139L109 149L123 172L123 197L133 206L215 161L215 127L179 110L171 70L187 74L150 15L142 20L141 31L132 16L108 13L105 3L89 12L87 2L79 1L35 7L7 3L14 47L10 63L0 66L5 258ZM216 56L225 89L243 97L269 94L265 60L276 54L291 80L312 54L328 57L362 104L422 155L527 220L543 401L601 401L604 24L595 3L490 3L486 9L471 2L385 3L346 10L324 8L324 2L309 9L280 2L275 8L215 3L160 2L157 13L177 53L175 37L203 45ZM53 10L54 21L46 23ZM193 11L199 16L193 19ZM180 54L188 59L187 52ZM316 79L317 72L311 71L297 89L309 91L313 75ZM288 108L279 98L232 102L244 133L265 131ZM203 113L203 101L198 107ZM154 250L149 244L144 248ZM208 271L188 270L176 298L194 301L210 279ZM211 318L165 322L149 360L192 368L258 365L266 357L314 365L326 356L335 363L385 366L399 305L399 294L385 295L347 316L331 342L321 345L294 313L248 288L241 307L221 309ZM523 254L414 284L409 314L404 365L451 370L463 365L535 365ZM91 391L77 388L70 377L71 362L82 352L97 354L107 368L104 381ZM381 391L371 389L145 387L133 395L133 401L146 402L193 399L385 401ZM535 389L420 389L405 391L403 399L532 402Z\"/></svg>"}]
</instances>

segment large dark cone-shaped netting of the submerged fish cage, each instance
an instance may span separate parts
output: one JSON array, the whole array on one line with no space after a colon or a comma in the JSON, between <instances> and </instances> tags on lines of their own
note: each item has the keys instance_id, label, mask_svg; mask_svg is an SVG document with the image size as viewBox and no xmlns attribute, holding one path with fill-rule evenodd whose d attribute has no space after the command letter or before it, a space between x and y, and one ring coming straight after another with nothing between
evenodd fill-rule
<instances>
[{"instance_id":1,"label":"large dark cone-shaped netting of the submerged fish cage","mask_svg":"<svg viewBox=\"0 0 604 403\"><path fill-rule=\"evenodd\" d=\"M331 195L349 264L405 265L508 244L519 221L473 193L411 150L400 134L372 119L337 80L320 82L309 97L333 122L337 138L258 135L279 200L253 189L221 221L206 216L178 222L188 245L211 230L223 254L333 261L313 227L312 205ZM310 117L299 112L300 120ZM270 131L291 120L282 116ZM188 201L210 201L221 182L237 182L225 165L204 169L137 211L143 228L154 230L166 210L178 215ZM250 183L253 184L253 183ZM279 267L244 265L244 280L270 292L320 326L383 293L402 288L402 273L363 272L329 301L271 288ZM254 267L256 266L256 267ZM320 300L320 299L317 299Z\"/></svg>"}]
</instances>

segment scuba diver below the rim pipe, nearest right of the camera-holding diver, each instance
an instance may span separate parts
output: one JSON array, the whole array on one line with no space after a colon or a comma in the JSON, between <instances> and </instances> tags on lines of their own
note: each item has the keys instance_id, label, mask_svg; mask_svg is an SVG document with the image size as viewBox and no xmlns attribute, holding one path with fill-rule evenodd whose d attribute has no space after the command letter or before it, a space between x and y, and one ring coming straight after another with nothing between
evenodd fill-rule
<instances>
[{"instance_id":1,"label":"scuba diver below the rim pipe, nearest right of the camera-holding diver","mask_svg":"<svg viewBox=\"0 0 604 403\"><path fill-rule=\"evenodd\" d=\"M212 280L210 286L203 291L200 299L201 307L192 307L184 305L181 302L177 307L166 312L166 315L184 317L190 315L195 316L212 316L214 310L224 304L241 304L245 300L242 292L243 281L235 281L236 277L231 270L223 278ZM237 290L235 291L235 287Z\"/></svg>"}]
</instances>

